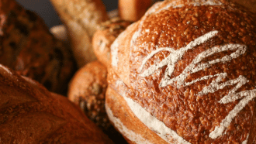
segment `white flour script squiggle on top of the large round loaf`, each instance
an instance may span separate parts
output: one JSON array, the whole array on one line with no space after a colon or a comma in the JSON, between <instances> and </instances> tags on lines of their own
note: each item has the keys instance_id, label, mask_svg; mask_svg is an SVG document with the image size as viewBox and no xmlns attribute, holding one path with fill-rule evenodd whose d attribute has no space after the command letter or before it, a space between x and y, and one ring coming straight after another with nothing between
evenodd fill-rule
<instances>
[{"instance_id":1,"label":"white flour script squiggle on top of the large round loaf","mask_svg":"<svg viewBox=\"0 0 256 144\"><path fill-rule=\"evenodd\" d=\"M203 36L200 36L199 38L195 39L194 41L190 42L187 46L182 47L178 50L174 50L169 47L162 47L157 50L154 50L151 52L142 62L139 71L141 72L144 68L144 65L147 63L147 60L154 57L156 53L159 53L161 51L168 51L170 54L168 57L165 57L164 60L161 61L161 63L155 63L154 65L150 66L147 70L144 70L142 74L140 74L140 77L147 77L151 74L154 74L154 72L164 66L167 66L164 77L161 80L161 83L159 84L159 87L165 87L170 84L176 84L176 87L185 87L189 86L191 84L194 84L198 81L204 81L208 80L209 78L216 77L215 80L213 80L209 86L203 87L202 91L199 91L197 96L203 96L209 93L214 93L220 89L223 89L224 87L235 85L232 90L229 91L227 95L225 95L220 101L220 104L227 104L232 101L236 101L240 98L240 102L234 107L232 111L229 112L229 114L226 116L226 118L223 119L223 121L220 123L219 126L216 126L213 132L210 132L209 137L211 139L216 139L220 135L223 134L224 130L227 129L227 127L230 125L234 117L251 101L253 98L256 97L256 89L254 90L247 90L247 91L240 91L237 92L237 90L242 87L244 84L247 84L249 81L246 77L240 75L237 77L237 79L226 81L221 83L223 78L227 77L227 73L220 73L215 75L207 75L204 77L200 77L198 79L195 79L194 81L185 82L186 78L189 76L189 74L194 74L198 72L199 70L204 70L207 67L212 66L215 63L225 63L232 59L235 59L239 57L240 55L244 54L247 50L247 46L241 45L241 44L226 44L223 46L214 46L210 48L209 50L206 50L202 53L199 53L197 57L195 57L194 60L192 60L192 63L189 64L189 66L185 67L185 70L182 71L182 74L179 74L177 77L172 77L171 75L175 70L175 63L178 62L178 60L182 60L183 55L188 51L191 50L195 46L199 46L202 43L205 43L207 40L213 38L216 36L218 31L211 31L209 33L206 33ZM234 53L231 53L230 55L227 55L225 57L222 57L220 59L216 60L210 60L206 63L200 63L202 60L204 60L206 57L212 56L215 53L221 53L227 50L232 50Z\"/></svg>"}]
</instances>

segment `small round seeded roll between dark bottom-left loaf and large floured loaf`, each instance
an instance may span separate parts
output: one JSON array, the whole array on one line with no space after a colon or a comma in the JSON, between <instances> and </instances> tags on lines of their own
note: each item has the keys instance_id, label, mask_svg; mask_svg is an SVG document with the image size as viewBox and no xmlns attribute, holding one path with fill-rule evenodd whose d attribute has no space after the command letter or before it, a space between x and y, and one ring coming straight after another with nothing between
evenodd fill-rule
<instances>
[{"instance_id":1,"label":"small round seeded roll between dark bottom-left loaf and large floured loaf","mask_svg":"<svg viewBox=\"0 0 256 144\"><path fill-rule=\"evenodd\" d=\"M109 122L105 110L107 69L98 60L81 67L71 79L67 97L78 105L85 115L95 122L115 143L126 141Z\"/></svg>"}]
</instances>

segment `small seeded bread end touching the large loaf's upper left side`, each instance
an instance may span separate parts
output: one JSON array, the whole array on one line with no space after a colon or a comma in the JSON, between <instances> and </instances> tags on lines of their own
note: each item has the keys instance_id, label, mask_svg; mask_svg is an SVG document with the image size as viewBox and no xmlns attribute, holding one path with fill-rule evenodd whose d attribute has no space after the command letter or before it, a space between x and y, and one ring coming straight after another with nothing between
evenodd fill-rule
<instances>
[{"instance_id":1,"label":"small seeded bread end touching the large loaf's upper left side","mask_svg":"<svg viewBox=\"0 0 256 144\"><path fill-rule=\"evenodd\" d=\"M122 33L132 22L119 18L103 22L101 28L92 37L92 48L97 59L106 67L110 62L110 46L117 36Z\"/></svg>"}]
</instances>

